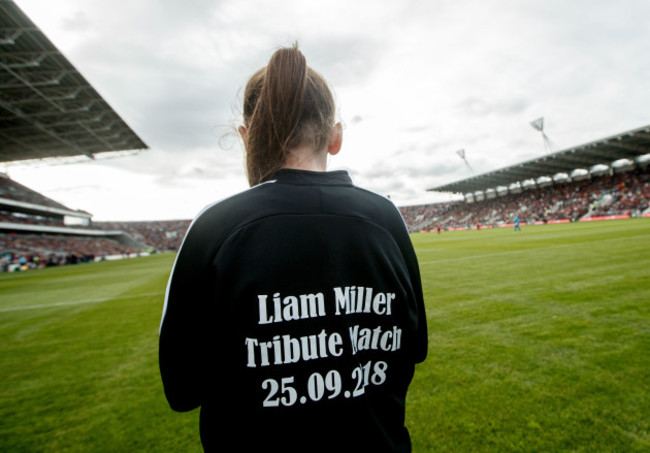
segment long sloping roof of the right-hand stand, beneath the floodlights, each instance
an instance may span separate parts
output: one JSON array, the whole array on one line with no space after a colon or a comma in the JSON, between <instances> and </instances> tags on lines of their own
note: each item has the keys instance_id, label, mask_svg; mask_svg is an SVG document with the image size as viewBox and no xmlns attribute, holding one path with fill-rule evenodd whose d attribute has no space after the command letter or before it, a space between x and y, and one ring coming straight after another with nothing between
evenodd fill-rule
<instances>
[{"instance_id":1,"label":"long sloping roof of the right-hand stand, beneath the floodlights","mask_svg":"<svg viewBox=\"0 0 650 453\"><path fill-rule=\"evenodd\" d=\"M474 193L490 188L509 187L526 180L537 180L542 176L571 174L576 169L589 170L599 164L610 166L617 160L634 160L648 153L650 125L427 190Z\"/></svg>"}]
</instances>

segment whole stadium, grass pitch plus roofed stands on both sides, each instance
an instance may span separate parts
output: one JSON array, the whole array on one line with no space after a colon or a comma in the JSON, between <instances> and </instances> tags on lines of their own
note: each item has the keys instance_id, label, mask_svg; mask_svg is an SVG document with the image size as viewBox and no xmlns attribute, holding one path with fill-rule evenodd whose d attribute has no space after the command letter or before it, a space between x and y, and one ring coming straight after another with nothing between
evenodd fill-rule
<instances>
[{"instance_id":1,"label":"whole stadium, grass pitch plus roofed stands on both sides","mask_svg":"<svg viewBox=\"0 0 650 453\"><path fill-rule=\"evenodd\" d=\"M146 152L13 2L0 21L1 162ZM647 125L400 207L432 349L409 394L414 451L650 449L649 165ZM191 219L90 211L0 174L0 448L198 451L197 418L168 410L156 364Z\"/></svg>"}]
</instances>

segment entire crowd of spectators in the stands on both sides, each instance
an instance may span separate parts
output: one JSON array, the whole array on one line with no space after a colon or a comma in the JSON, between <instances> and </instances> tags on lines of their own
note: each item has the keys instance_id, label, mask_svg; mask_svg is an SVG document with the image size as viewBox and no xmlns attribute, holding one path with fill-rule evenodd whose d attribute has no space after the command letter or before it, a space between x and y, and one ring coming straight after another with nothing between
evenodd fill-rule
<instances>
[{"instance_id":1,"label":"entire crowd of spectators in the stands on both sides","mask_svg":"<svg viewBox=\"0 0 650 453\"><path fill-rule=\"evenodd\" d=\"M5 198L29 199L31 203L52 205L52 200L7 181L10 180L0 177L0 197L4 194ZM555 182L546 187L524 189L520 193L473 203L449 201L400 208L409 230L414 232L499 226L512 223L515 216L525 224L577 221L589 216L635 216L648 210L648 166L580 181ZM6 210L0 211L2 222L65 227L60 218ZM128 256L142 250L175 251L180 247L190 224L191 220L94 222L85 227L121 231L139 242L141 249L130 249L115 240L90 235L0 233L0 266L2 270L28 269L95 261L111 255Z\"/></svg>"}]
</instances>

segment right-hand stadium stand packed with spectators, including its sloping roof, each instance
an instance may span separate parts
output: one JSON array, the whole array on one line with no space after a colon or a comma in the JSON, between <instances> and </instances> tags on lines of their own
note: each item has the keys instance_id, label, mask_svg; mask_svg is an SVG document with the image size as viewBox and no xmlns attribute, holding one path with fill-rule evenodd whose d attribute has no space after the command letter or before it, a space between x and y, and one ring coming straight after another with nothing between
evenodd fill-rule
<instances>
[{"instance_id":1,"label":"right-hand stadium stand packed with spectators, including its sloping roof","mask_svg":"<svg viewBox=\"0 0 650 453\"><path fill-rule=\"evenodd\" d=\"M429 189L464 195L443 212L402 212L411 231L648 215L649 158L645 126ZM414 212L420 221L409 222Z\"/></svg>"}]
</instances>

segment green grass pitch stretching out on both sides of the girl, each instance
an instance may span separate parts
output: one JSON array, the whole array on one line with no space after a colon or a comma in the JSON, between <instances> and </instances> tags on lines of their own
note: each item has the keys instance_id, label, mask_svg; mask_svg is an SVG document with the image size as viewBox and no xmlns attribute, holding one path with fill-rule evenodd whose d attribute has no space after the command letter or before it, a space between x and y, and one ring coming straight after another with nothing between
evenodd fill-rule
<instances>
[{"instance_id":1,"label":"green grass pitch stretching out on both sides of the girl","mask_svg":"<svg viewBox=\"0 0 650 453\"><path fill-rule=\"evenodd\" d=\"M650 219L413 241L415 452L650 451ZM173 258L0 274L0 451L200 451L158 374Z\"/></svg>"}]
</instances>

